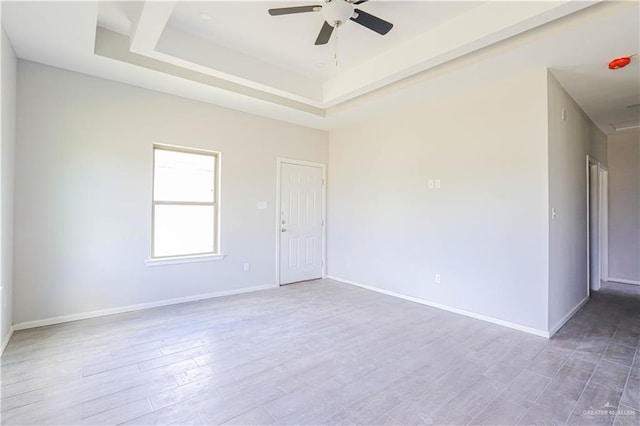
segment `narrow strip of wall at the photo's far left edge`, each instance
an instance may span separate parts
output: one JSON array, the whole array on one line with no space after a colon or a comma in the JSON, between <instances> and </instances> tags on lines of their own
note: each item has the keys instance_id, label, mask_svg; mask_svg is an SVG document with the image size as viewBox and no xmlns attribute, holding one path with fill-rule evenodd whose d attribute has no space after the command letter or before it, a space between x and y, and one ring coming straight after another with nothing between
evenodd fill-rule
<instances>
[{"instance_id":1,"label":"narrow strip of wall at the photo's far left edge","mask_svg":"<svg viewBox=\"0 0 640 426\"><path fill-rule=\"evenodd\" d=\"M0 99L2 99L0 127L2 144L0 145L0 342L4 342L12 324L13 310L13 177L14 148L16 135L16 71L17 60L13 47L2 28L2 80Z\"/></svg>"}]
</instances>

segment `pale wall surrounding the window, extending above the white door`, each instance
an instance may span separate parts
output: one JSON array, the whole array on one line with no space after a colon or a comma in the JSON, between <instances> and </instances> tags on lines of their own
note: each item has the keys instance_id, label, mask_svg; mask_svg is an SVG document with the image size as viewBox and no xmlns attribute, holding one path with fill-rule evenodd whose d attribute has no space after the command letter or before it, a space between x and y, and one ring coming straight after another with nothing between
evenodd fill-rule
<instances>
[{"instance_id":1,"label":"pale wall surrounding the window, extending above the white door","mask_svg":"<svg viewBox=\"0 0 640 426\"><path fill-rule=\"evenodd\" d=\"M15 323L275 283L276 157L326 132L22 60L18 93ZM145 266L157 142L222 152L224 261Z\"/></svg>"}]
</instances>

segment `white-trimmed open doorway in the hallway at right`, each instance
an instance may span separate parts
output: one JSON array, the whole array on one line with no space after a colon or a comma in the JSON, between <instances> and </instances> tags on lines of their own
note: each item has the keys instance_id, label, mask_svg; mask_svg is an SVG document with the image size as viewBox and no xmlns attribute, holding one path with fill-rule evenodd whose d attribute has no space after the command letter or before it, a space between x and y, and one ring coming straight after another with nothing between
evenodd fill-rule
<instances>
[{"instance_id":1,"label":"white-trimmed open doorway in the hallway at right","mask_svg":"<svg viewBox=\"0 0 640 426\"><path fill-rule=\"evenodd\" d=\"M587 287L600 290L608 275L608 171L587 156Z\"/></svg>"}]
</instances>

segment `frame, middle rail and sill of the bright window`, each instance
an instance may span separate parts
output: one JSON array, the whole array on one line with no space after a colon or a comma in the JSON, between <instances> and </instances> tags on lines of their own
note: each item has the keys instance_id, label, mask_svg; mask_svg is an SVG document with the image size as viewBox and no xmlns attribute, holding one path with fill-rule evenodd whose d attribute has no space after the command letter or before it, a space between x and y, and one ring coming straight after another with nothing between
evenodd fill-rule
<instances>
[{"instance_id":1,"label":"frame, middle rail and sill of the bright window","mask_svg":"<svg viewBox=\"0 0 640 426\"><path fill-rule=\"evenodd\" d=\"M213 173L213 190L215 195L213 201L156 201L155 200L155 186L156 186L156 150L170 151L170 152L182 152L186 154L195 154L202 156L213 157L214 159L214 173ZM152 167L151 167L151 257L147 260L148 266L165 265L172 263L191 263L201 262L208 260L221 260L224 259L224 255L220 254L220 152L210 151L199 148L188 148L177 145L166 144L153 144L152 146ZM211 206L213 207L213 251L201 252L201 253L182 253L168 256L156 256L155 254L155 226L156 206Z\"/></svg>"}]
</instances>

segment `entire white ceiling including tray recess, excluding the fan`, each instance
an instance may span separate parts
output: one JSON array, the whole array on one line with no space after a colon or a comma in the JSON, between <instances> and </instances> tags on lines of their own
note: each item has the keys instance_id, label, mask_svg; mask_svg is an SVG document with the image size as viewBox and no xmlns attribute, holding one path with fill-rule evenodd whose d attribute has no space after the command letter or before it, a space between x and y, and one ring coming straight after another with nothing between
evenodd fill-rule
<instances>
[{"instance_id":1,"label":"entire white ceiling including tray recess, excluding the fan","mask_svg":"<svg viewBox=\"0 0 640 426\"><path fill-rule=\"evenodd\" d=\"M372 0L394 28L347 22L337 68L319 13L267 13L320 3L3 1L2 20L21 58L321 129L532 67L604 131L638 119L637 58L606 68L640 50L638 2Z\"/></svg>"}]
</instances>

